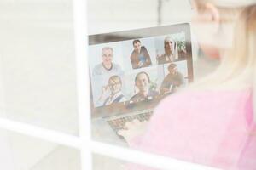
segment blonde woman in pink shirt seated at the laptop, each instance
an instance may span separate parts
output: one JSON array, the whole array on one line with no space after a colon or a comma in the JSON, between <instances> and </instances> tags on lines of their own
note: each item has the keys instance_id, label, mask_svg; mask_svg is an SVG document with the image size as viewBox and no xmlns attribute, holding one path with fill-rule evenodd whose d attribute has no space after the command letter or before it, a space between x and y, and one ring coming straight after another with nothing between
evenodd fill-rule
<instances>
[{"instance_id":1,"label":"blonde woman in pink shirt seated at the laptop","mask_svg":"<svg viewBox=\"0 0 256 170\"><path fill-rule=\"evenodd\" d=\"M129 130L142 126L139 122L127 123L128 130L119 134L139 150L222 169L253 170L256 167L253 101L256 1L196 0L194 3L197 14L193 22L201 33L198 34L201 48L205 54L222 60L218 71L164 99L143 135ZM249 4L252 6L244 8ZM238 15L232 38L228 33L233 31ZM138 137L134 138L135 135Z\"/></svg>"}]
</instances>

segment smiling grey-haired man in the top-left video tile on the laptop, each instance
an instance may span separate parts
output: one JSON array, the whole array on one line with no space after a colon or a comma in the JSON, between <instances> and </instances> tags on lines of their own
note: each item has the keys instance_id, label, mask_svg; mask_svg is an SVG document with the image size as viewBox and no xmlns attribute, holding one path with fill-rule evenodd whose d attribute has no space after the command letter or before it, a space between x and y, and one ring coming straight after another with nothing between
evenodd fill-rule
<instances>
[{"instance_id":1,"label":"smiling grey-haired man in the top-left video tile on the laptop","mask_svg":"<svg viewBox=\"0 0 256 170\"><path fill-rule=\"evenodd\" d=\"M112 62L113 48L102 48L102 63L96 65L92 71L93 76L109 76L121 75L123 71L121 67Z\"/></svg>"}]
</instances>

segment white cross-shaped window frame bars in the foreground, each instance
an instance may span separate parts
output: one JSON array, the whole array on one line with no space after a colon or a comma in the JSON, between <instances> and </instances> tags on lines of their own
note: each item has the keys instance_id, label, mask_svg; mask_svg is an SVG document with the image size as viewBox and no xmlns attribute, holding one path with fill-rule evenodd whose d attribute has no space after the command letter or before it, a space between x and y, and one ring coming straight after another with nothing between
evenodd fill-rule
<instances>
[{"instance_id":1,"label":"white cross-shaped window frame bars in the foreground","mask_svg":"<svg viewBox=\"0 0 256 170\"><path fill-rule=\"evenodd\" d=\"M0 118L0 128L80 150L81 170L92 170L92 153L160 169L216 169L187 161L178 161L170 157L149 154L139 150L104 144L91 139L90 98L88 97L90 96L90 87L87 60L88 31L86 0L73 0L73 20L78 84L79 136L32 126L24 122L15 122L3 117Z\"/></svg>"}]
</instances>

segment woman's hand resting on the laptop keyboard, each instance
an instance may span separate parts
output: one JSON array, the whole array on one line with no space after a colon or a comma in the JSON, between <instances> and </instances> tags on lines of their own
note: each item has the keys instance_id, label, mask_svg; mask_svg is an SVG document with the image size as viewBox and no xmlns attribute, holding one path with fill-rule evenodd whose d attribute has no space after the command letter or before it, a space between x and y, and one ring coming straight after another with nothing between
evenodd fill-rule
<instances>
[{"instance_id":1,"label":"woman's hand resting on the laptop keyboard","mask_svg":"<svg viewBox=\"0 0 256 170\"><path fill-rule=\"evenodd\" d=\"M148 121L140 122L134 119L132 122L126 122L125 129L119 130L118 134L123 136L128 144L131 144L132 139L145 133L147 124Z\"/></svg>"}]
</instances>

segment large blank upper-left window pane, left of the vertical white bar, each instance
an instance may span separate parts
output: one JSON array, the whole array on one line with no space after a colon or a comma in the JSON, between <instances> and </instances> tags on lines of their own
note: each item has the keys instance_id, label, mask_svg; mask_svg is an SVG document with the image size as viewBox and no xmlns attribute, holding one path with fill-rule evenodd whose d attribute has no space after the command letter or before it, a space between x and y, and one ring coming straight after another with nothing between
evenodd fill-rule
<instances>
[{"instance_id":1,"label":"large blank upper-left window pane, left of the vertical white bar","mask_svg":"<svg viewBox=\"0 0 256 170\"><path fill-rule=\"evenodd\" d=\"M73 1L0 3L1 116L78 132Z\"/></svg>"}]
</instances>

